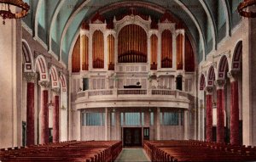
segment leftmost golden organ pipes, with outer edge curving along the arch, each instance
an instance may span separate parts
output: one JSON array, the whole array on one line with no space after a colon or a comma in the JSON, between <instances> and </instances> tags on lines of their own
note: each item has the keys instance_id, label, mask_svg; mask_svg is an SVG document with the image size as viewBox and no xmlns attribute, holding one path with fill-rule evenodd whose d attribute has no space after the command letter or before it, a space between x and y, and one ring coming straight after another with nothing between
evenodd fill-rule
<instances>
[{"instance_id":1,"label":"leftmost golden organ pipes, with outer edge curving along the arch","mask_svg":"<svg viewBox=\"0 0 256 162\"><path fill-rule=\"evenodd\" d=\"M78 37L72 53L72 72L80 71L80 36Z\"/></svg>"}]
</instances>

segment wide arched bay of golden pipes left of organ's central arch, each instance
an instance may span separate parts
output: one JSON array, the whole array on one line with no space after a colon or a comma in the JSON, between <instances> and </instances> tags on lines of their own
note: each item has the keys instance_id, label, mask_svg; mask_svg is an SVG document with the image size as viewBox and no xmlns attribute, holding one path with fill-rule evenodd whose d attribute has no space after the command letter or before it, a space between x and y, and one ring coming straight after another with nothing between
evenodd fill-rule
<instances>
[{"instance_id":1,"label":"wide arched bay of golden pipes left of organ's central arch","mask_svg":"<svg viewBox=\"0 0 256 162\"><path fill-rule=\"evenodd\" d=\"M95 31L92 36L93 68L104 68L104 40L102 31Z\"/></svg>"}]
</instances>

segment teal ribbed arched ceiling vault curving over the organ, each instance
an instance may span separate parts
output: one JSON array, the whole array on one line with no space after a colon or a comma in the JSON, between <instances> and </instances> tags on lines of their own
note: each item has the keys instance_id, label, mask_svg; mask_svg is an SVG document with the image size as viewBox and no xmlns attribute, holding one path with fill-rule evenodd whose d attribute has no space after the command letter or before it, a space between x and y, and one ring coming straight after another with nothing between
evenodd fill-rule
<instances>
[{"instance_id":1,"label":"teal ribbed arched ceiling vault curving over the organ","mask_svg":"<svg viewBox=\"0 0 256 162\"><path fill-rule=\"evenodd\" d=\"M107 20L124 14L125 8L136 7L143 14L156 19L166 11L181 20L194 44L198 62L217 49L231 28L241 18L236 6L242 0L24 0L31 6L23 19L33 36L41 39L49 53L64 64L68 63L70 47L78 35L83 20L90 20L96 12Z\"/></svg>"}]
</instances>

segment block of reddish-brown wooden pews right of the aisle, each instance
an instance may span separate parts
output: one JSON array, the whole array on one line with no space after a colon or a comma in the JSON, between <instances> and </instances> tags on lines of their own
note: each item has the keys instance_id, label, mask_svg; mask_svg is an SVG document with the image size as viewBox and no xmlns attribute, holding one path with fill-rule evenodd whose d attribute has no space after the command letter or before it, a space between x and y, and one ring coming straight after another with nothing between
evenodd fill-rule
<instances>
[{"instance_id":1,"label":"block of reddish-brown wooden pews right of the aisle","mask_svg":"<svg viewBox=\"0 0 256 162\"><path fill-rule=\"evenodd\" d=\"M202 141L144 141L152 161L256 161L256 148Z\"/></svg>"}]
</instances>

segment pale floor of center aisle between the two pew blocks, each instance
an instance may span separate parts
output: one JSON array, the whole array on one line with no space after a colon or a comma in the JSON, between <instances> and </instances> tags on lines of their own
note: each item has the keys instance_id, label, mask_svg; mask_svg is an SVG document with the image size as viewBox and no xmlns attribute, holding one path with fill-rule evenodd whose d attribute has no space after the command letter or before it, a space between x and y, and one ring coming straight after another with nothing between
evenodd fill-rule
<instances>
[{"instance_id":1,"label":"pale floor of center aisle between the two pew blocks","mask_svg":"<svg viewBox=\"0 0 256 162\"><path fill-rule=\"evenodd\" d=\"M143 148L123 148L115 162L121 161L150 161Z\"/></svg>"}]
</instances>

